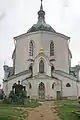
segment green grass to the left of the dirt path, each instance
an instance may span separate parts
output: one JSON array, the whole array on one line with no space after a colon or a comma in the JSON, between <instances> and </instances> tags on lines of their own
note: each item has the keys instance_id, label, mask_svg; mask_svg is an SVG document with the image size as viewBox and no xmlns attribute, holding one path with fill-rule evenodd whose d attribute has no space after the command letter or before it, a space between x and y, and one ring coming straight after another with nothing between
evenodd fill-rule
<instances>
[{"instance_id":1,"label":"green grass to the left of the dirt path","mask_svg":"<svg viewBox=\"0 0 80 120\"><path fill-rule=\"evenodd\" d=\"M24 120L28 117L27 107L37 107L38 101L27 101L25 105L11 105L0 103L0 120Z\"/></svg>"}]
</instances>

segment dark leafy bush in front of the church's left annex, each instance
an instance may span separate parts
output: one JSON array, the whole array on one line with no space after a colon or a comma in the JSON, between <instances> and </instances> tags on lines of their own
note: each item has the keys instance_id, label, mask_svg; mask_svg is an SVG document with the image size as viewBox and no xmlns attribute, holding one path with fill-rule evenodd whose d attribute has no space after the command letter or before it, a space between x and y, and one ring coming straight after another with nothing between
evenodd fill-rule
<instances>
[{"instance_id":1,"label":"dark leafy bush in front of the church's left annex","mask_svg":"<svg viewBox=\"0 0 80 120\"><path fill-rule=\"evenodd\" d=\"M27 92L25 90L25 87L20 84L20 81L18 81L18 84L14 84L12 86L12 90L9 93L8 97L5 97L4 103L12 103L12 104L24 104L25 99L27 98Z\"/></svg>"}]
</instances>

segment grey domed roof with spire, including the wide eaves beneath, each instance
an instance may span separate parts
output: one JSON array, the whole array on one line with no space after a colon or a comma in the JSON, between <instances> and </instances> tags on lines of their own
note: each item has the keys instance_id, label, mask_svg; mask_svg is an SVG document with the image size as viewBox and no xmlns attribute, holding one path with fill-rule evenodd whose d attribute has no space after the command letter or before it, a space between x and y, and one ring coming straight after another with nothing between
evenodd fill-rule
<instances>
[{"instance_id":1,"label":"grey domed roof with spire, including the wide eaves beneath","mask_svg":"<svg viewBox=\"0 0 80 120\"><path fill-rule=\"evenodd\" d=\"M38 12L38 22L34 24L26 33L19 35L17 37L14 37L15 40L18 40L21 37L24 37L25 35L30 35L37 32L49 32L49 34L57 34L58 36L64 37L65 39L69 40L70 37L63 35L61 33L56 32L50 25L46 24L45 22L45 12L43 11L43 6L41 2L41 7ZM29 33L29 34L28 34Z\"/></svg>"}]
</instances>

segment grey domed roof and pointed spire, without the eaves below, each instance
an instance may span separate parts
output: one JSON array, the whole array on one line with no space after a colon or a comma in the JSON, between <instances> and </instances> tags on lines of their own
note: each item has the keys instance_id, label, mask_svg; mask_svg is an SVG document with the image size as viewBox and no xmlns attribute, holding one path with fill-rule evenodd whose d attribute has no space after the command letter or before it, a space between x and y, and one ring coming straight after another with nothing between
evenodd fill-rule
<instances>
[{"instance_id":1,"label":"grey domed roof and pointed spire, without the eaves below","mask_svg":"<svg viewBox=\"0 0 80 120\"><path fill-rule=\"evenodd\" d=\"M45 11L43 10L43 4L41 0L40 10L38 11L38 22L34 24L27 33L36 32L36 31L49 31L56 32L50 25L45 22Z\"/></svg>"}]
</instances>

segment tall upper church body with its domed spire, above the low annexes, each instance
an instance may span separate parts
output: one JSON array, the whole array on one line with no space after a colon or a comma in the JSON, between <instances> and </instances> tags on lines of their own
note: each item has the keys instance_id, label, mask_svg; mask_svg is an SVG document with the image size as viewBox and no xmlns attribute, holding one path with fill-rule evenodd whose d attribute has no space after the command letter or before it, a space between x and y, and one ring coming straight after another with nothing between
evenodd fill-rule
<instances>
[{"instance_id":1,"label":"tall upper church body with its domed spire, above the low annexes","mask_svg":"<svg viewBox=\"0 0 80 120\"><path fill-rule=\"evenodd\" d=\"M42 0L38 21L27 33L14 38L13 53L15 74L31 70L33 76L39 73L40 61L44 63L44 73L51 76L52 68L69 73L69 37L57 33L45 22ZM63 46L63 47L62 47Z\"/></svg>"}]
</instances>

